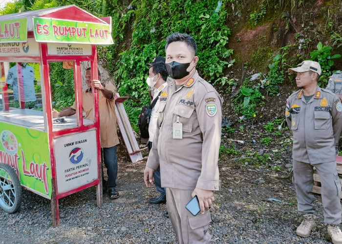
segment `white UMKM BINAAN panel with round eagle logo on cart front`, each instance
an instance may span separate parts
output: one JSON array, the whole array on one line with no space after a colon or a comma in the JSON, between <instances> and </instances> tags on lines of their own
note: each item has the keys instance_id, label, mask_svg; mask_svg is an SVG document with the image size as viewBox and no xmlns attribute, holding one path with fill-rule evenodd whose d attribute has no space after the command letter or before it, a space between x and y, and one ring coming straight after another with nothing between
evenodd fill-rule
<instances>
[{"instance_id":1,"label":"white UMKM BINAAN panel with round eagle logo on cart front","mask_svg":"<svg viewBox=\"0 0 342 244\"><path fill-rule=\"evenodd\" d=\"M54 145L58 193L98 179L95 130L56 138Z\"/></svg>"}]
</instances>

